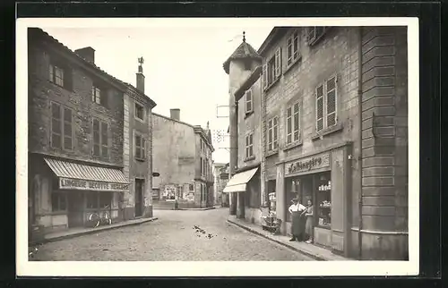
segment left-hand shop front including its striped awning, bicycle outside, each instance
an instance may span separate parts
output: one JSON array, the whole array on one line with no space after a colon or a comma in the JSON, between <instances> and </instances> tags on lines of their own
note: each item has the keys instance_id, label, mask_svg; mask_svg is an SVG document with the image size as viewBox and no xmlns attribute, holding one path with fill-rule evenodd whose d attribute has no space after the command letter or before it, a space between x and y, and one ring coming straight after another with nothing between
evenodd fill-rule
<instances>
[{"instance_id":1,"label":"left-hand shop front including its striped awning, bicycle outside","mask_svg":"<svg viewBox=\"0 0 448 288\"><path fill-rule=\"evenodd\" d=\"M119 220L119 203L129 182L118 169L43 158L31 189L34 223L46 233L88 226L91 216ZM36 168L39 163L33 164Z\"/></svg>"}]
</instances>

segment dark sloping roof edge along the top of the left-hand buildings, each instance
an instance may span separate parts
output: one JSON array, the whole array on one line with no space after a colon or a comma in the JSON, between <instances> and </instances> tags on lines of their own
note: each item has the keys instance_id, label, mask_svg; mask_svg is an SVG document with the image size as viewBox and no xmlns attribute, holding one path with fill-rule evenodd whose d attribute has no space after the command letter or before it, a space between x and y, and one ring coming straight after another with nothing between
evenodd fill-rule
<instances>
[{"instance_id":1,"label":"dark sloping roof edge along the top of the left-hand buildings","mask_svg":"<svg viewBox=\"0 0 448 288\"><path fill-rule=\"evenodd\" d=\"M90 61L85 60L84 58L82 58L81 55L78 55L77 53L75 53L74 51L72 51L72 49L70 49L69 47L66 47L63 43L59 42L56 38L52 37L51 35L49 35L46 31L37 28L37 27L32 27L28 29L28 33L29 35L32 35L33 37L41 37L43 39L47 39L50 42L52 42L53 44L56 44L56 46L62 48L63 50L65 50L65 53L68 53L69 55L72 55L74 57L76 57L77 61L80 61L82 64L87 65L90 68L93 68L96 72L99 72L99 74L102 74L103 76L106 76L107 78L109 78L110 80L115 81L118 85L120 86L125 86L127 89L131 89L134 93L140 94L144 97L146 97L151 105L151 108L156 106L156 103L147 95L145 95L144 93L142 93L140 90L136 89L134 87L134 85L126 83L122 80L119 80L118 78L112 76L111 74L109 74L108 72L105 72L104 70L102 70L101 68L99 68L99 66L91 63Z\"/></svg>"}]
</instances>

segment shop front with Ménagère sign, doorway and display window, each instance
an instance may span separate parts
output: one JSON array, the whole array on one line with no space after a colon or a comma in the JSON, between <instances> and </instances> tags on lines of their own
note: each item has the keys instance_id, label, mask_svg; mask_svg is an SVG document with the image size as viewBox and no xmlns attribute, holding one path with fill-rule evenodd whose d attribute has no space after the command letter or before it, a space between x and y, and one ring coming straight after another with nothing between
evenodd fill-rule
<instances>
[{"instance_id":1,"label":"shop front with M\u00e9nag\u00e8re sign, doorway and display window","mask_svg":"<svg viewBox=\"0 0 448 288\"><path fill-rule=\"evenodd\" d=\"M349 146L308 157L289 160L284 165L284 211L286 233L290 232L291 200L298 198L306 207L313 206L314 244L338 254L348 253L349 241ZM279 204L277 204L279 205Z\"/></svg>"}]
</instances>

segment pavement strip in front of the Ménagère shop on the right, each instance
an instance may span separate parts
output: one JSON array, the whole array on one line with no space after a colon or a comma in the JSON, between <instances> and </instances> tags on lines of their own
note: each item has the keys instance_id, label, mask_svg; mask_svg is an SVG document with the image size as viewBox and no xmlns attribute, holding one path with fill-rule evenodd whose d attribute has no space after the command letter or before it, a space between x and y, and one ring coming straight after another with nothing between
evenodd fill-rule
<instances>
[{"instance_id":1,"label":"pavement strip in front of the M\u00e9nag\u00e8re shop on the right","mask_svg":"<svg viewBox=\"0 0 448 288\"><path fill-rule=\"evenodd\" d=\"M321 261L350 261L349 258L344 258L339 255L335 255L331 250L326 250L324 248L318 247L313 244L307 244L306 242L289 241L288 236L283 235L272 235L272 233L263 230L263 228L256 224L247 223L241 219L235 217L229 217L228 223L234 224L239 228L245 229L251 233L258 234L268 240L275 241L280 245L288 247L291 250L295 250L306 256L314 258Z\"/></svg>"}]
</instances>

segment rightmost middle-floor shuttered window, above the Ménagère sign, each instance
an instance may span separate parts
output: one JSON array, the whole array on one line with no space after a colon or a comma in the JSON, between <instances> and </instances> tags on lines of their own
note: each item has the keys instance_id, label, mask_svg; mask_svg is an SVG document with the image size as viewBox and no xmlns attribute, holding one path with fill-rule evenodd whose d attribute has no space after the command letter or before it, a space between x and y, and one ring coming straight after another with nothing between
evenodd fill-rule
<instances>
[{"instance_id":1,"label":"rightmost middle-floor shuttered window, above the M\u00e9nag\u00e8re sign","mask_svg":"<svg viewBox=\"0 0 448 288\"><path fill-rule=\"evenodd\" d=\"M328 91L328 82L330 80L334 79L334 89ZM320 83L314 90L314 97L315 97L315 101L314 101L314 106L315 106L315 131L316 132L322 132L328 129L331 129L334 126L337 126L339 123L339 113L338 113L338 102L339 102L339 94L338 94L338 75L337 74L333 74L330 78L323 80L322 83ZM317 101L320 99L320 97L317 97L317 89L319 89L320 87L322 87L323 89L323 96L322 96L322 101L323 101L323 117L322 117L322 121L323 121L323 125L322 125L322 129L319 129L318 127L318 121L321 118L317 118ZM334 90L334 111L330 114L334 114L334 123L332 125L328 125L328 94L330 92L332 92Z\"/></svg>"}]
</instances>

